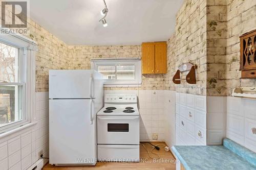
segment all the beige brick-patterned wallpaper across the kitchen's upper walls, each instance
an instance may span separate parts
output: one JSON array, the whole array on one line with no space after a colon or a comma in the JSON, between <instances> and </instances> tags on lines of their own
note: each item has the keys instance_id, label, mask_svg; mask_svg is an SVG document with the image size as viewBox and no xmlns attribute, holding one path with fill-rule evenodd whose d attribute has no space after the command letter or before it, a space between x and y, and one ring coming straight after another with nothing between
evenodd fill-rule
<instances>
[{"instance_id":1,"label":"all the beige brick-patterned wallpaper across the kitchen's upper walls","mask_svg":"<svg viewBox=\"0 0 256 170\"><path fill-rule=\"evenodd\" d=\"M238 86L256 86L255 79L241 79L239 36L255 29L256 1L185 0L176 14L176 31L168 40L168 72L143 75L141 87L113 90L176 90L200 95L230 95ZM141 57L140 45L72 46L59 40L34 21L27 37L37 41L36 91L48 91L49 69L90 69L91 58ZM172 82L179 65L198 65L197 84ZM187 72L182 73L182 78Z\"/></svg>"}]
</instances>

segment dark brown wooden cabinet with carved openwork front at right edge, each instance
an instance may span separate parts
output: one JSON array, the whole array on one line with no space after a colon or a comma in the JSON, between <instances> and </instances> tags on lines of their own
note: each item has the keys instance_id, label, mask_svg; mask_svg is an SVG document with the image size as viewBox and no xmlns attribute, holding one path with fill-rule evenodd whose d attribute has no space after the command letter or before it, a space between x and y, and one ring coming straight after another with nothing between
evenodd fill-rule
<instances>
[{"instance_id":1,"label":"dark brown wooden cabinet with carved openwork front at right edge","mask_svg":"<svg viewBox=\"0 0 256 170\"><path fill-rule=\"evenodd\" d=\"M256 30L240 36L242 78L256 78Z\"/></svg>"}]
</instances>

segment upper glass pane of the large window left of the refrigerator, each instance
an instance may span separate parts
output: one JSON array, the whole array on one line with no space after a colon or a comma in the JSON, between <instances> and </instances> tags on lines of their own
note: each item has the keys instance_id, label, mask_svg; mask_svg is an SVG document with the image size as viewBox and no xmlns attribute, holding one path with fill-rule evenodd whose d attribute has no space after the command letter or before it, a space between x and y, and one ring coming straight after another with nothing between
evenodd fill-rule
<instances>
[{"instance_id":1,"label":"upper glass pane of the large window left of the refrigerator","mask_svg":"<svg viewBox=\"0 0 256 170\"><path fill-rule=\"evenodd\" d=\"M18 48L0 43L0 81L18 82Z\"/></svg>"}]
</instances>

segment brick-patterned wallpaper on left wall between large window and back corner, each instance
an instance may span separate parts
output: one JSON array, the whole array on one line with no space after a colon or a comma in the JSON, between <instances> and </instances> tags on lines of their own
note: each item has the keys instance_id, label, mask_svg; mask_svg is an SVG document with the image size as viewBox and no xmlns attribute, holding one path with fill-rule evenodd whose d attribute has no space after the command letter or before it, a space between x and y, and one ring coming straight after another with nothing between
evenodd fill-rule
<instances>
[{"instance_id":1,"label":"brick-patterned wallpaper on left wall between large window and back corner","mask_svg":"<svg viewBox=\"0 0 256 170\"><path fill-rule=\"evenodd\" d=\"M28 23L27 37L38 43L36 53L36 92L48 91L50 69L68 69L68 45L34 21Z\"/></svg>"}]
</instances>

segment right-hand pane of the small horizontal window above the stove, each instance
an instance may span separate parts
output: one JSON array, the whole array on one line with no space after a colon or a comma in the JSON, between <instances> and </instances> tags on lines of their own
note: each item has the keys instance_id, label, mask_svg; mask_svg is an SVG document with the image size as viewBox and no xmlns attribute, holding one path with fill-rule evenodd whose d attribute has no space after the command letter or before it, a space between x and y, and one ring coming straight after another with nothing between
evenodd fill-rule
<instances>
[{"instance_id":1,"label":"right-hand pane of the small horizontal window above the stove","mask_svg":"<svg viewBox=\"0 0 256 170\"><path fill-rule=\"evenodd\" d=\"M135 65L117 65L118 80L135 80Z\"/></svg>"}]
</instances>

